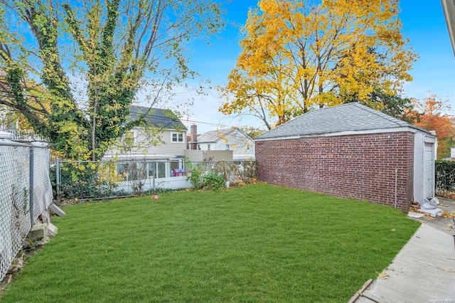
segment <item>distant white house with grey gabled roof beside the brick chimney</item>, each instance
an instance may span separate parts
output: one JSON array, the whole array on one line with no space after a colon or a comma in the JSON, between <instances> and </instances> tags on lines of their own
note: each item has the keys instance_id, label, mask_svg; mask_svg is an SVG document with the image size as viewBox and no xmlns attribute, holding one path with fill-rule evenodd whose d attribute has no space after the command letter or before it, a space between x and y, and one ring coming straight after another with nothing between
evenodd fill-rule
<instances>
[{"instance_id":1,"label":"distant white house with grey gabled roof beside the brick chimney","mask_svg":"<svg viewBox=\"0 0 455 303\"><path fill-rule=\"evenodd\" d=\"M190 146L201 151L232 151L234 160L255 159L255 141L236 127L205 132Z\"/></svg>"}]
</instances>

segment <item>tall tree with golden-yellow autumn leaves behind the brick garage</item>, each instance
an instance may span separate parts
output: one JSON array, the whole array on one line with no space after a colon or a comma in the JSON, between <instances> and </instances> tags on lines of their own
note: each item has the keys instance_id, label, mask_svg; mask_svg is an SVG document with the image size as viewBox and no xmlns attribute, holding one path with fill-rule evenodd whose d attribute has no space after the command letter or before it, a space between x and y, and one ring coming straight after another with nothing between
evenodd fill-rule
<instances>
[{"instance_id":1,"label":"tall tree with golden-yellow autumn leaves behind the brick garage","mask_svg":"<svg viewBox=\"0 0 455 303\"><path fill-rule=\"evenodd\" d=\"M398 95L417 57L400 33L397 0L260 0L242 53L220 87L220 111L256 115L269 129L315 107ZM274 122L274 123L272 123Z\"/></svg>"}]
</instances>

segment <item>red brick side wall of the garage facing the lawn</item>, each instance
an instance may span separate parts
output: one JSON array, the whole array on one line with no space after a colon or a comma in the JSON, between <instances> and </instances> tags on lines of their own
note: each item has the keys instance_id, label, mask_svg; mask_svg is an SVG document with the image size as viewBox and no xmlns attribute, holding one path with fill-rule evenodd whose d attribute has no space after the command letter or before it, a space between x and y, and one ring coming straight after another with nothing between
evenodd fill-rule
<instances>
[{"instance_id":1,"label":"red brick side wall of the garage facing the lawn","mask_svg":"<svg viewBox=\"0 0 455 303\"><path fill-rule=\"evenodd\" d=\"M398 169L397 208L407 211L413 198L412 132L256 142L256 161L269 184L389 206Z\"/></svg>"}]
</instances>

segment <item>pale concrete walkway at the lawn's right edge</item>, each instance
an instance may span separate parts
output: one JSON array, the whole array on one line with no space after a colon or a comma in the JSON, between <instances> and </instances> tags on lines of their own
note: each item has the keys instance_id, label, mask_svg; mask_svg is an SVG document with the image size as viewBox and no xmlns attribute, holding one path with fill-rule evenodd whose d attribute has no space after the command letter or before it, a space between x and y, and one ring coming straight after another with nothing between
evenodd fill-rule
<instances>
[{"instance_id":1,"label":"pale concrete walkway at the lawn's right edge","mask_svg":"<svg viewBox=\"0 0 455 303\"><path fill-rule=\"evenodd\" d=\"M455 303L454 236L422 224L380 276L350 302Z\"/></svg>"}]
</instances>

